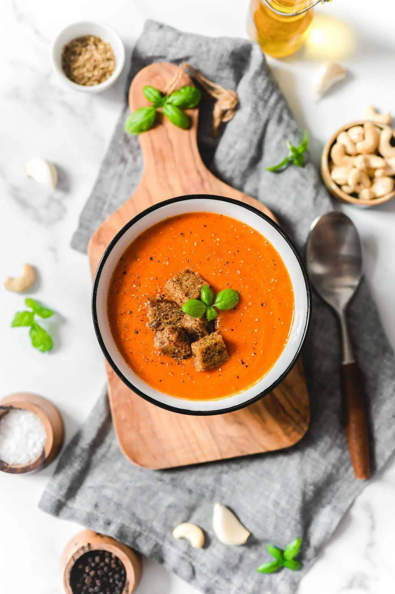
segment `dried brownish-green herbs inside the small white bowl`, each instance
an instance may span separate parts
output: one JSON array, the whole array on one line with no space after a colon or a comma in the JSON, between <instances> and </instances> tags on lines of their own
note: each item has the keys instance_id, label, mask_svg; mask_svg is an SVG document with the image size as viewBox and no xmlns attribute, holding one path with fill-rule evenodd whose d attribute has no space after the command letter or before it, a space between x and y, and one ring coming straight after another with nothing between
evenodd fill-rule
<instances>
[{"instance_id":1,"label":"dried brownish-green herbs inside the small white bowl","mask_svg":"<svg viewBox=\"0 0 395 594\"><path fill-rule=\"evenodd\" d=\"M85 87L104 83L115 68L112 47L94 35L72 39L62 50L62 68L73 83Z\"/></svg>"}]
</instances>

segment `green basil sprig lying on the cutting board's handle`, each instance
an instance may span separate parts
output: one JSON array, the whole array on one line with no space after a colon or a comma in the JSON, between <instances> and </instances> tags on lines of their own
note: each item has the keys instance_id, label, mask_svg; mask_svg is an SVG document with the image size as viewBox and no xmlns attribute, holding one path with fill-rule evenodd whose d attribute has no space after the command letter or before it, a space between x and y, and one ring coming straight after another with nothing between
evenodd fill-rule
<instances>
[{"instance_id":1,"label":"green basil sprig lying on the cutting board's handle","mask_svg":"<svg viewBox=\"0 0 395 594\"><path fill-rule=\"evenodd\" d=\"M164 115L178 128L189 128L190 121L183 109L196 107L201 97L199 89L190 85L181 87L170 95L164 95L147 84L143 87L143 93L152 106L136 109L129 115L125 122L125 130L129 134L142 134L150 130L155 124L158 108L163 108Z\"/></svg>"}]
</instances>

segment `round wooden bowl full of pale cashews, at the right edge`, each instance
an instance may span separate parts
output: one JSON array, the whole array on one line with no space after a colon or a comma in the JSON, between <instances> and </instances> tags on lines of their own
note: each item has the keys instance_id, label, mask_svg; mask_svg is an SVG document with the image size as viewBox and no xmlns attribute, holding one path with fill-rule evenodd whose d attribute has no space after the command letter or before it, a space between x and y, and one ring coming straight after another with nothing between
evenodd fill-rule
<instances>
[{"instance_id":1,"label":"round wooden bowl full of pale cashews, at the right edge","mask_svg":"<svg viewBox=\"0 0 395 594\"><path fill-rule=\"evenodd\" d=\"M321 174L335 198L376 206L395 196L395 137L390 121L389 113L373 112L372 119L343 126L327 142Z\"/></svg>"}]
</instances>

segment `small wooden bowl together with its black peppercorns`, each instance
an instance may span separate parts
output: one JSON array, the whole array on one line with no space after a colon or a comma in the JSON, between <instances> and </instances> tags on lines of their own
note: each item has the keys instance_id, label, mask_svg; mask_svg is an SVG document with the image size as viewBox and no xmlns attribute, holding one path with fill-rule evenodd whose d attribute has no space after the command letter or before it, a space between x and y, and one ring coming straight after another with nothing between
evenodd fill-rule
<instances>
[{"instance_id":1,"label":"small wooden bowl together with its black peppercorns","mask_svg":"<svg viewBox=\"0 0 395 594\"><path fill-rule=\"evenodd\" d=\"M132 549L92 530L69 541L60 564L66 594L132 594L141 576Z\"/></svg>"}]
</instances>

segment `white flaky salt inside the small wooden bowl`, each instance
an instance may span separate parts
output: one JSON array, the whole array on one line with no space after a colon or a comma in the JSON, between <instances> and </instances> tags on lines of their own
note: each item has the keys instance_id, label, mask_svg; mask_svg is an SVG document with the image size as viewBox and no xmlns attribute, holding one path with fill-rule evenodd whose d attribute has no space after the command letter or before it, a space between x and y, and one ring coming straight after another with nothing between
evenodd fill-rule
<instances>
[{"instance_id":1,"label":"white flaky salt inside the small wooden bowl","mask_svg":"<svg viewBox=\"0 0 395 594\"><path fill-rule=\"evenodd\" d=\"M43 451L44 425L30 410L9 410L0 419L0 460L7 464L28 464Z\"/></svg>"}]
</instances>

